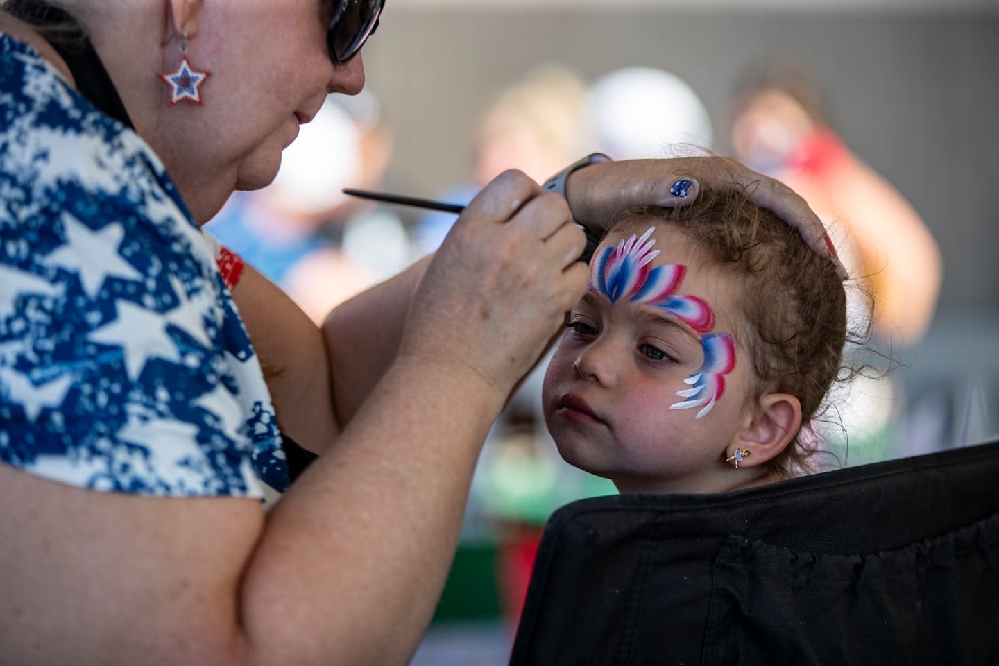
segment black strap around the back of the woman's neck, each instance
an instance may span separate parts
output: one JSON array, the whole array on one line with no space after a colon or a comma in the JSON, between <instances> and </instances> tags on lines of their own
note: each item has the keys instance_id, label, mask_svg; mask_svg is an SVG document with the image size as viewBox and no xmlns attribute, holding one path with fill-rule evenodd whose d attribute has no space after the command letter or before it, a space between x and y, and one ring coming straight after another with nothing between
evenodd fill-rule
<instances>
[{"instance_id":1,"label":"black strap around the back of the woman's neck","mask_svg":"<svg viewBox=\"0 0 999 666\"><path fill-rule=\"evenodd\" d=\"M134 130L125 105L80 24L66 11L38 0L9 0L4 10L39 29L66 61L77 90L104 114Z\"/></svg>"}]
</instances>

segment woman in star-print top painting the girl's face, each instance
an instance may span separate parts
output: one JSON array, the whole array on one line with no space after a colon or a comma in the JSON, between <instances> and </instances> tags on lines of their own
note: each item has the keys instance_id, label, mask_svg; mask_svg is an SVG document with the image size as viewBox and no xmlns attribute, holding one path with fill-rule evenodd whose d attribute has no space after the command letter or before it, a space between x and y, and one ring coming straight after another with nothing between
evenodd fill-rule
<instances>
[{"instance_id":1,"label":"woman in star-print top painting the girl's face","mask_svg":"<svg viewBox=\"0 0 999 666\"><path fill-rule=\"evenodd\" d=\"M433 260L322 330L251 269L228 275L237 316L197 233L274 177L329 92L361 90L381 4L64 0L48 39L11 13L37 2L4 5L0 664L386 664L417 646L489 427L585 289L582 233L508 172ZM103 84L74 65L74 23ZM696 179L758 176L594 165L573 211L677 205ZM278 423L323 454L265 514L261 479L287 482Z\"/></svg>"}]
</instances>

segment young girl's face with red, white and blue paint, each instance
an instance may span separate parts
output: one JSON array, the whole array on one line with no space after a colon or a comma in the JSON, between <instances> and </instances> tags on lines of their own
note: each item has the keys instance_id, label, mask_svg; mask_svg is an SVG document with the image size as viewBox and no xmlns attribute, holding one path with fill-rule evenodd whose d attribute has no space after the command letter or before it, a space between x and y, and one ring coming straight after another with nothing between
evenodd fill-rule
<instances>
[{"instance_id":1,"label":"young girl's face with red, white and blue paint","mask_svg":"<svg viewBox=\"0 0 999 666\"><path fill-rule=\"evenodd\" d=\"M734 285L680 232L650 231L612 234L593 255L544 376L545 420L566 461L621 492L731 489L725 458L751 418Z\"/></svg>"}]
</instances>

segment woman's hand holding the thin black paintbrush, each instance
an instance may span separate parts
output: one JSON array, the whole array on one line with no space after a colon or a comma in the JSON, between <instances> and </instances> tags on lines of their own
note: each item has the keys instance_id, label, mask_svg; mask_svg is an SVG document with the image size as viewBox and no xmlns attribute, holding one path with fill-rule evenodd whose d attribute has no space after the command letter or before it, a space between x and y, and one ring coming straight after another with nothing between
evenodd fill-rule
<instances>
[{"instance_id":1,"label":"woman's hand holding the thin black paintbrush","mask_svg":"<svg viewBox=\"0 0 999 666\"><path fill-rule=\"evenodd\" d=\"M471 367L503 393L536 362L588 273L565 201L507 171L466 209L427 269L400 353Z\"/></svg>"}]
</instances>

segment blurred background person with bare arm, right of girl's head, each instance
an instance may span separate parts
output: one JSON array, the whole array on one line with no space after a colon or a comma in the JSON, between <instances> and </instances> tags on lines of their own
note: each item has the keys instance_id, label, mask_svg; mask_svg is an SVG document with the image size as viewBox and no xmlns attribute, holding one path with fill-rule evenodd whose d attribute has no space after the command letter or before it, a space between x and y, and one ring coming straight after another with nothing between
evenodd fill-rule
<instances>
[{"instance_id":1,"label":"blurred background person with bare arm, right of girl's head","mask_svg":"<svg viewBox=\"0 0 999 666\"><path fill-rule=\"evenodd\" d=\"M918 342L933 320L943 275L923 219L836 134L805 72L766 65L745 79L735 106L735 157L790 186L843 230L852 254L843 261L874 299L873 332L893 346Z\"/></svg>"}]
</instances>

